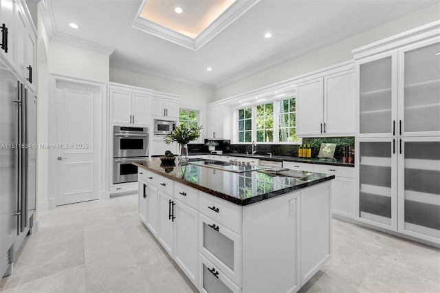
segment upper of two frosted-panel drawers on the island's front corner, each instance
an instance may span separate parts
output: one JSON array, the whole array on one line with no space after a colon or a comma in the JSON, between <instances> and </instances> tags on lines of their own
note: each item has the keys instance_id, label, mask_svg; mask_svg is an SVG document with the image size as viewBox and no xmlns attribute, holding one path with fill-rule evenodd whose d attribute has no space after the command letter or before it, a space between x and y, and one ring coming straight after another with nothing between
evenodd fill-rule
<instances>
[{"instance_id":1,"label":"upper of two frosted-panel drawers on the island's front corner","mask_svg":"<svg viewBox=\"0 0 440 293\"><path fill-rule=\"evenodd\" d=\"M204 215L199 223L199 252L241 285L241 237Z\"/></svg>"}]
</instances>

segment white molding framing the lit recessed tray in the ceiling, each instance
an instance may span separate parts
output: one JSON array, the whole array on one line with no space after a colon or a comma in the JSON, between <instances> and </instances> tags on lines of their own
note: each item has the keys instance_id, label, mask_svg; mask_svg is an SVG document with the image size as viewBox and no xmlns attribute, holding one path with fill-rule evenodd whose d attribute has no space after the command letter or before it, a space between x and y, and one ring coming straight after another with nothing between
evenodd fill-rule
<instances>
[{"instance_id":1,"label":"white molding framing the lit recessed tray in the ceiling","mask_svg":"<svg viewBox=\"0 0 440 293\"><path fill-rule=\"evenodd\" d=\"M214 36L217 36L217 34L219 34L222 30L236 21L236 19L239 19L239 17L250 10L250 8L252 8L259 1L260 0L239 0L234 2L230 8L225 10L223 14L213 21L208 28L203 30L203 32L201 32L201 34L199 34L199 36L197 36L195 39L140 17L140 12L142 11L146 0L142 1L131 27L141 30L142 32L146 32L147 34L157 36L171 43L181 45L187 49L197 51L212 38L214 38Z\"/></svg>"}]
</instances>

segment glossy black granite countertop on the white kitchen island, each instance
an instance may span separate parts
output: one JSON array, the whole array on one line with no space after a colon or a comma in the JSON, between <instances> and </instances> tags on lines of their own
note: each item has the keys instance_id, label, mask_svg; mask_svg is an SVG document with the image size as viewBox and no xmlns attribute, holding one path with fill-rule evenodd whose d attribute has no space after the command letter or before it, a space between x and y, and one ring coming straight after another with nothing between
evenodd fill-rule
<instances>
[{"instance_id":1,"label":"glossy black granite countertop on the white kitchen island","mask_svg":"<svg viewBox=\"0 0 440 293\"><path fill-rule=\"evenodd\" d=\"M299 171L306 175L300 179L267 175L259 171L233 173L192 164L177 165L171 169L166 168L160 160L142 161L143 165L133 164L239 206L261 202L335 178L334 175L305 171Z\"/></svg>"}]
</instances>

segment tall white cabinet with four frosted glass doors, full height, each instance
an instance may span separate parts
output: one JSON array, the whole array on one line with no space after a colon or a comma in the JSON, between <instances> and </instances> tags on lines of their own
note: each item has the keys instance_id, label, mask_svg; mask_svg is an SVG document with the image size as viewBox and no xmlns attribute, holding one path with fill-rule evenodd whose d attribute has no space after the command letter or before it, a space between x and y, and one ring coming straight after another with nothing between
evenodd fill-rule
<instances>
[{"instance_id":1,"label":"tall white cabinet with four frosted glass doors, full height","mask_svg":"<svg viewBox=\"0 0 440 293\"><path fill-rule=\"evenodd\" d=\"M353 51L355 219L437 245L439 29L437 21Z\"/></svg>"}]
</instances>

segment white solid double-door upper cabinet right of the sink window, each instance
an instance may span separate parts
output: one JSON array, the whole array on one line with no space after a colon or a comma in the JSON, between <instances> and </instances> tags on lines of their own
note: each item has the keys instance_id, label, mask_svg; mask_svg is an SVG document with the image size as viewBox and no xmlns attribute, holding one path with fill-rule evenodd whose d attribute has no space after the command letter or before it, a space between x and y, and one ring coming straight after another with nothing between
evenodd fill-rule
<instances>
[{"instance_id":1,"label":"white solid double-door upper cabinet right of the sink window","mask_svg":"<svg viewBox=\"0 0 440 293\"><path fill-rule=\"evenodd\" d=\"M353 135L355 74L347 69L350 67L340 72L331 69L319 78L298 84L298 136Z\"/></svg>"}]
</instances>

